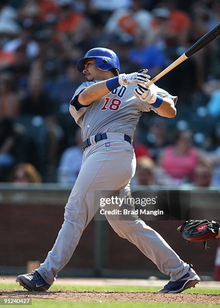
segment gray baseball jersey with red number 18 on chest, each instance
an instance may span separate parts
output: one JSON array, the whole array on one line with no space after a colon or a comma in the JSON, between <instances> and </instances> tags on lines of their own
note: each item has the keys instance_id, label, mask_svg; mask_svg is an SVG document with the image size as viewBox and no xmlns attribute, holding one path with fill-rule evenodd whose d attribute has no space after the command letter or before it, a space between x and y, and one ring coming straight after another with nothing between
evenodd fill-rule
<instances>
[{"instance_id":1,"label":"gray baseball jersey with red number 18 on chest","mask_svg":"<svg viewBox=\"0 0 220 308\"><path fill-rule=\"evenodd\" d=\"M85 88L94 83L96 82L83 83L76 90L71 102ZM88 107L80 108L79 111L70 102L70 113L82 128L82 139L85 140L91 135L103 132L121 132L133 139L134 130L142 112L152 110L157 113L157 109L151 104L143 102L134 96L133 91L136 87L137 85L121 86ZM150 87L155 88L159 96L170 97L176 103L176 96L170 95L155 85Z\"/></svg>"}]
</instances>

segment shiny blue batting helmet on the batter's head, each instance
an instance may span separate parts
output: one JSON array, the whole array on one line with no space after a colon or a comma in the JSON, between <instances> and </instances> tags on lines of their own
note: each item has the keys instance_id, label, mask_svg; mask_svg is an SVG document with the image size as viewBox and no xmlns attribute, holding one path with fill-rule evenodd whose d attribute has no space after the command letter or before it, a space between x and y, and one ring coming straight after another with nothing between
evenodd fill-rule
<instances>
[{"instance_id":1,"label":"shiny blue batting helmet on the batter's head","mask_svg":"<svg viewBox=\"0 0 220 308\"><path fill-rule=\"evenodd\" d=\"M84 58L79 59L76 63L78 71L83 71L85 61L88 58L95 58L95 65L101 70L108 70L115 67L120 72L119 58L111 49L101 47L90 49L86 52Z\"/></svg>"}]
</instances>

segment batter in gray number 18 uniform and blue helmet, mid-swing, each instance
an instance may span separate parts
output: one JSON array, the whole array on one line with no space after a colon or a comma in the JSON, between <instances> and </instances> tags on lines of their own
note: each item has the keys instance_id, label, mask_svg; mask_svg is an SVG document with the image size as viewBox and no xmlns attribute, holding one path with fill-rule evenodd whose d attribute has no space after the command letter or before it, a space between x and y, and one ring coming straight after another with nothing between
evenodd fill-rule
<instances>
[{"instance_id":1,"label":"batter in gray number 18 uniform and blue helmet, mid-swing","mask_svg":"<svg viewBox=\"0 0 220 308\"><path fill-rule=\"evenodd\" d=\"M120 74L119 58L112 50L93 48L78 60L76 67L84 73L86 82L73 95L70 113L82 129L83 163L52 250L38 269L16 279L32 291L48 290L70 260L99 207L94 202L94 191L119 190L124 196L130 195L130 180L136 168L132 139L142 112L176 115L177 97L155 85L144 86L150 78L146 69ZM170 275L170 281L158 292L179 293L200 281L191 265L182 261L144 221L106 218L120 237L135 244L162 273Z\"/></svg>"}]
</instances>

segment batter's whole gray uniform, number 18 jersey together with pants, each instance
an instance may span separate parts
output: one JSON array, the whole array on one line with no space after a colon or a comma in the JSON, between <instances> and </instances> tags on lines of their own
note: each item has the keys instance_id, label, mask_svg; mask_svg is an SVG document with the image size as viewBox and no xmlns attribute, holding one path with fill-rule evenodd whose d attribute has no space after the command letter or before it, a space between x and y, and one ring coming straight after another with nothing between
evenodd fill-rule
<instances>
[{"instance_id":1,"label":"batter's whole gray uniform, number 18 jersey together with pants","mask_svg":"<svg viewBox=\"0 0 220 308\"><path fill-rule=\"evenodd\" d=\"M83 83L71 102L93 83ZM176 102L176 97L156 86L151 87L155 87L160 96L170 97ZM37 269L49 284L53 284L57 273L71 258L83 230L99 207L94 192L119 191L123 197L131 194L130 180L135 174L136 159L134 149L125 141L124 134L133 137L143 111L157 112L150 104L137 99L133 95L134 89L135 85L121 86L78 110L70 104L70 113L82 128L83 140L97 133L106 133L107 139L92 143L84 151L83 164L65 206L62 228L46 260ZM110 219L106 214L105 217L120 237L136 245L161 272L170 275L172 281L188 272L189 265L141 219L133 219L129 215L126 219Z\"/></svg>"}]
</instances>

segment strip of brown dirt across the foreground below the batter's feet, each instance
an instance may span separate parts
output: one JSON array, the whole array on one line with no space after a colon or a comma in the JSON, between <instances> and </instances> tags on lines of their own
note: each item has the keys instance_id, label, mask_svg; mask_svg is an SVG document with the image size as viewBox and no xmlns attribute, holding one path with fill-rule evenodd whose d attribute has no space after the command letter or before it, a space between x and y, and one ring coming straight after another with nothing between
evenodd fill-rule
<instances>
[{"instance_id":1,"label":"strip of brown dirt across the foreground below the batter's feet","mask_svg":"<svg viewBox=\"0 0 220 308\"><path fill-rule=\"evenodd\" d=\"M220 304L220 294L158 294L153 292L96 292L96 291L52 291L52 292L28 292L28 291L1 291L0 298L18 297L32 299L55 300L89 300L89 301L151 301L151 302L177 302L177 303L204 303Z\"/></svg>"}]
</instances>

